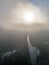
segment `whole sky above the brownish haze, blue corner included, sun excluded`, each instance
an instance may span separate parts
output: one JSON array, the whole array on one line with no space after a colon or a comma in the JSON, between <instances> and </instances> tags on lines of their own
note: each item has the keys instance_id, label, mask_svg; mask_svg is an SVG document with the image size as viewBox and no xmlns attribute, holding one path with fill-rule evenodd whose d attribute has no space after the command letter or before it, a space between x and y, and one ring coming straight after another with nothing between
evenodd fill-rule
<instances>
[{"instance_id":1,"label":"whole sky above the brownish haze, blue corner included, sun excluded","mask_svg":"<svg viewBox=\"0 0 49 65\"><path fill-rule=\"evenodd\" d=\"M35 11L34 22L49 23L49 0L0 0L1 27L23 23L21 15L25 10Z\"/></svg>"}]
</instances>

